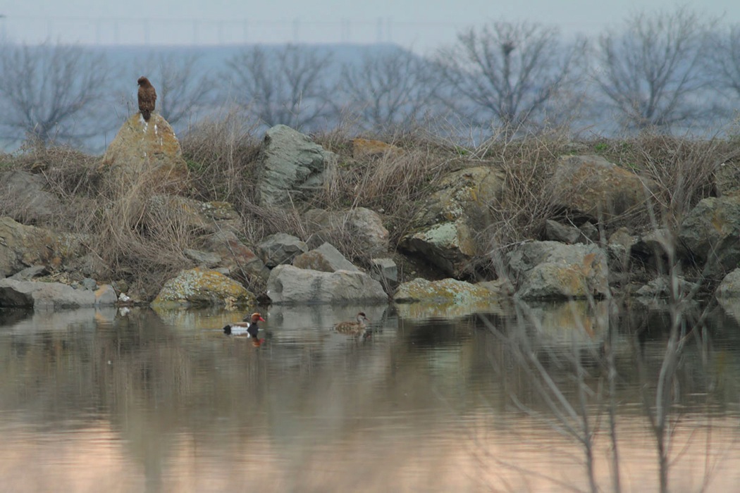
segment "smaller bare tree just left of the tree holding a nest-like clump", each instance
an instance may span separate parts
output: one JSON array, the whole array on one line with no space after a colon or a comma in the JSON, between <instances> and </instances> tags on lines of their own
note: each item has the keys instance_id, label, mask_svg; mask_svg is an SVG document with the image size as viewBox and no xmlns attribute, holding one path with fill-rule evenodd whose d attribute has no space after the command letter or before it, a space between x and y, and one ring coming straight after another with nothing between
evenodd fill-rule
<instances>
[{"instance_id":1,"label":"smaller bare tree just left of the tree holding a nest-like clump","mask_svg":"<svg viewBox=\"0 0 740 493\"><path fill-rule=\"evenodd\" d=\"M366 55L342 68L340 90L351 115L363 126L406 126L434 112L439 79L433 64L407 50Z\"/></svg>"}]
</instances>

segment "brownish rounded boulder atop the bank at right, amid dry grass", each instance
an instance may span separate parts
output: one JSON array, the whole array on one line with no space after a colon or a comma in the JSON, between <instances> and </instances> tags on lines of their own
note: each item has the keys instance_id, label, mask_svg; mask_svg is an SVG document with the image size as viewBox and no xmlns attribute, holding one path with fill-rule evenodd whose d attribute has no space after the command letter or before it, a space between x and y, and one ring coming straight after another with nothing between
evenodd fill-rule
<instances>
[{"instance_id":1,"label":"brownish rounded boulder atop the bank at right, amid dry grass","mask_svg":"<svg viewBox=\"0 0 740 493\"><path fill-rule=\"evenodd\" d=\"M593 220L616 217L647 203L652 180L639 177L600 156L562 157L548 187L553 205Z\"/></svg>"}]
</instances>

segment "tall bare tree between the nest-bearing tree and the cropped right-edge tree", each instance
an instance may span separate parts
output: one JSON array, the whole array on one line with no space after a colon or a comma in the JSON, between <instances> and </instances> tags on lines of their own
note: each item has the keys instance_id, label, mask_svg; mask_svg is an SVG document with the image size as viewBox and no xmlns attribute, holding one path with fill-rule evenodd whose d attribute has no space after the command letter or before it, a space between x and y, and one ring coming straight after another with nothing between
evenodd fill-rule
<instances>
[{"instance_id":1,"label":"tall bare tree between the nest-bearing tree and the cropped right-edge tree","mask_svg":"<svg viewBox=\"0 0 740 493\"><path fill-rule=\"evenodd\" d=\"M700 60L708 26L682 7L652 16L636 13L624 31L600 38L596 84L622 126L670 129L710 113L696 98L706 85Z\"/></svg>"}]
</instances>

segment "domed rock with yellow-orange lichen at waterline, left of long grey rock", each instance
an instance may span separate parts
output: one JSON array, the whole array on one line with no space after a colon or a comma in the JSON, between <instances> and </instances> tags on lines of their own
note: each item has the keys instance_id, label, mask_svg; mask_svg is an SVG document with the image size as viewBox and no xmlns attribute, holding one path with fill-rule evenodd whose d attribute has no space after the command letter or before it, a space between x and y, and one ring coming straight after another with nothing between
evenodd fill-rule
<instances>
[{"instance_id":1,"label":"domed rock with yellow-orange lichen at waterline, left of long grey rock","mask_svg":"<svg viewBox=\"0 0 740 493\"><path fill-rule=\"evenodd\" d=\"M209 306L254 305L255 295L216 271L194 268L182 271L164 284L152 305Z\"/></svg>"}]
</instances>

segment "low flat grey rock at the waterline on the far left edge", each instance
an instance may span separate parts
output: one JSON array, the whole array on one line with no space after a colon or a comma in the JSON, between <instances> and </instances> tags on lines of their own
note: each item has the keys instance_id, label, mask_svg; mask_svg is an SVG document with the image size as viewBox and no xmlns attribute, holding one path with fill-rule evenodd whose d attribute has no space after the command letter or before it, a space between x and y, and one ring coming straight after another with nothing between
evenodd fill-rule
<instances>
[{"instance_id":1,"label":"low flat grey rock at the waterline on the far left edge","mask_svg":"<svg viewBox=\"0 0 740 493\"><path fill-rule=\"evenodd\" d=\"M33 282L0 279L0 307L61 309L115 305L115 290L104 285L98 290L75 289L60 282Z\"/></svg>"}]
</instances>

